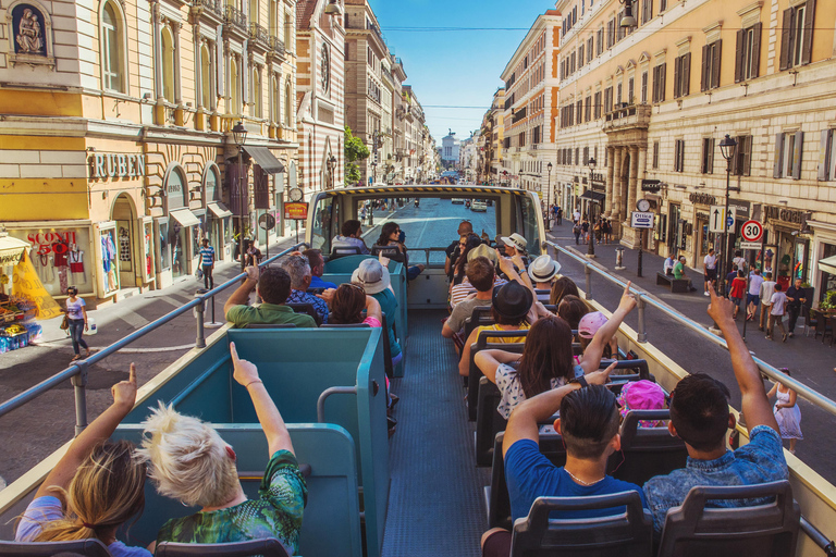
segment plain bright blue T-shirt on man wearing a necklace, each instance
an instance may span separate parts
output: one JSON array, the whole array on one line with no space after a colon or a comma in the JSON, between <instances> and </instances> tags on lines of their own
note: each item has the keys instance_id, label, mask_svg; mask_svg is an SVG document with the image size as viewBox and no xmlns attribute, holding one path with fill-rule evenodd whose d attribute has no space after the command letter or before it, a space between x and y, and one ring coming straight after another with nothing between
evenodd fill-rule
<instances>
[{"instance_id":1,"label":"plain bright blue T-shirt on man wearing a necklace","mask_svg":"<svg viewBox=\"0 0 836 557\"><path fill-rule=\"evenodd\" d=\"M638 492L641 504L648 508L641 487L623 482L611 475L592 485L580 485L563 468L549 461L537 443L520 440L505 453L505 481L511 495L511 518L517 520L528 516L538 497L589 497L611 493ZM578 510L576 512L552 512L550 518L598 518L619 515L625 507L612 509Z\"/></svg>"}]
</instances>

